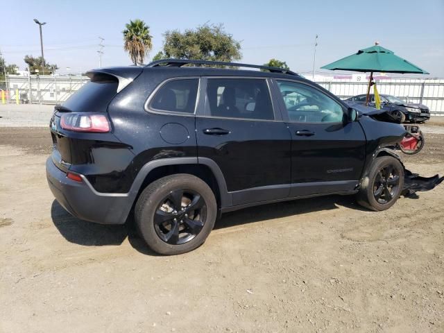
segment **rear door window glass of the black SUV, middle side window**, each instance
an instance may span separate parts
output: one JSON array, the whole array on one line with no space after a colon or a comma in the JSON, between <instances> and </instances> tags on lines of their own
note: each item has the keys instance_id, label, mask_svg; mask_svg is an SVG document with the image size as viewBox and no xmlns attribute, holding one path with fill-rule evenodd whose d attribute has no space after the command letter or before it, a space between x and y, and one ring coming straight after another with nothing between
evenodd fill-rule
<instances>
[{"instance_id":1,"label":"rear door window glass of the black SUV, middle side window","mask_svg":"<svg viewBox=\"0 0 444 333\"><path fill-rule=\"evenodd\" d=\"M274 119L266 80L209 78L205 114L239 119Z\"/></svg>"}]
</instances>

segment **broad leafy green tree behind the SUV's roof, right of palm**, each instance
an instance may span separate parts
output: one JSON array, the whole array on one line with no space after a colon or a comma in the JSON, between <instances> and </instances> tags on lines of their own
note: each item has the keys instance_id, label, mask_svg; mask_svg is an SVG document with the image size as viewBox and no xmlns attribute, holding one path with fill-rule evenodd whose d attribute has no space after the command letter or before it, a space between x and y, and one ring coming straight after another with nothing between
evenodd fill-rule
<instances>
[{"instance_id":1,"label":"broad leafy green tree behind the SUV's roof, right of palm","mask_svg":"<svg viewBox=\"0 0 444 333\"><path fill-rule=\"evenodd\" d=\"M162 58L232 61L241 58L241 43L226 33L223 24L167 31Z\"/></svg>"}]
</instances>

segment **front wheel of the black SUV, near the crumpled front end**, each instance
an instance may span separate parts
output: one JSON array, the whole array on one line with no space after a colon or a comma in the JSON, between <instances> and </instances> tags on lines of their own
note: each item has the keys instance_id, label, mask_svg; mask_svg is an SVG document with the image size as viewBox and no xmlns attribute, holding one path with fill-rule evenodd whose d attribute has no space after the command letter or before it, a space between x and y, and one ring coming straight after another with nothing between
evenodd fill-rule
<instances>
[{"instance_id":1,"label":"front wheel of the black SUV, near the crumpled front end","mask_svg":"<svg viewBox=\"0 0 444 333\"><path fill-rule=\"evenodd\" d=\"M404 168L400 161L392 156L376 157L368 176L361 181L357 203L369 210L388 210L398 200L403 185Z\"/></svg>"}]
</instances>

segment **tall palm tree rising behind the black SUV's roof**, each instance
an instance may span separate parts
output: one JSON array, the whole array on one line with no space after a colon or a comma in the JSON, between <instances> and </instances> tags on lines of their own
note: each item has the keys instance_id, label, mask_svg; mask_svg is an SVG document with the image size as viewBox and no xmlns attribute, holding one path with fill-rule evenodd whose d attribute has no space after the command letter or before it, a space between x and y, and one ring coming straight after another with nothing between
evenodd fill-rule
<instances>
[{"instance_id":1,"label":"tall palm tree rising behind the black SUV's roof","mask_svg":"<svg viewBox=\"0 0 444 333\"><path fill-rule=\"evenodd\" d=\"M134 65L142 64L149 51L153 49L150 27L142 19L130 20L130 23L126 24L125 27L126 29L122 31L123 40L125 41L123 48L130 54Z\"/></svg>"}]
</instances>

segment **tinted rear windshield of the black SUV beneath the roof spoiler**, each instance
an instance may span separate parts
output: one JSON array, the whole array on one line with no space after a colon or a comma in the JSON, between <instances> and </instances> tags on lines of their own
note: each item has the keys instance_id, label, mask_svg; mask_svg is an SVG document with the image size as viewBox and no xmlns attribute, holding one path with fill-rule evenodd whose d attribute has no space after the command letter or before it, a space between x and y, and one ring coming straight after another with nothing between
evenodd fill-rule
<instances>
[{"instance_id":1,"label":"tinted rear windshield of the black SUV beneath the roof spoiler","mask_svg":"<svg viewBox=\"0 0 444 333\"><path fill-rule=\"evenodd\" d=\"M106 112L111 99L117 94L119 80L110 75L95 75L86 85L72 94L62 106L71 111Z\"/></svg>"}]
</instances>

